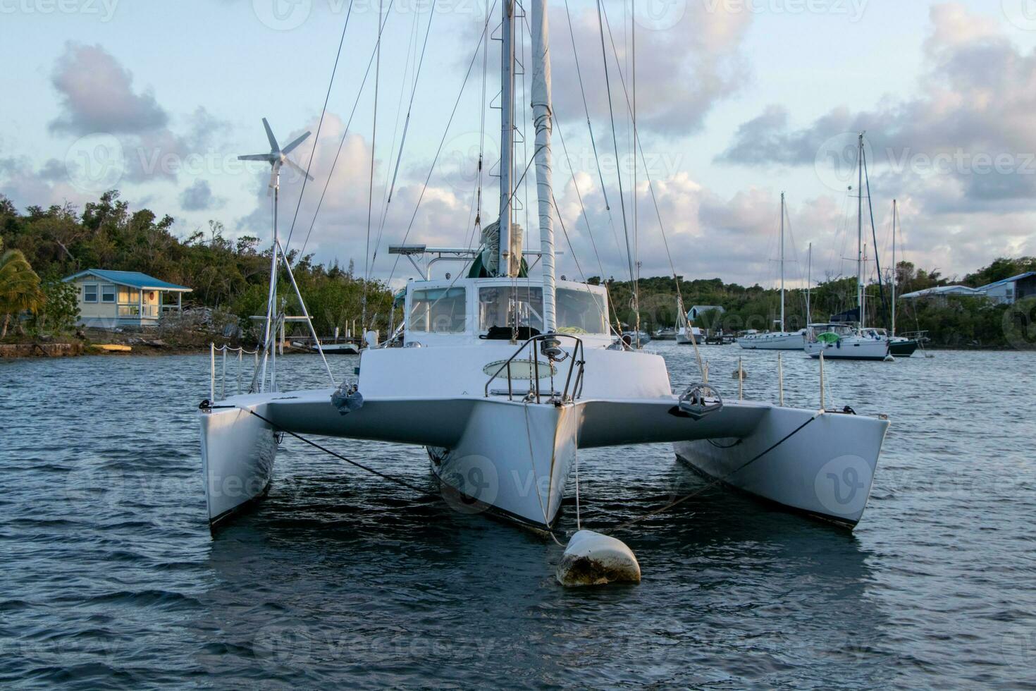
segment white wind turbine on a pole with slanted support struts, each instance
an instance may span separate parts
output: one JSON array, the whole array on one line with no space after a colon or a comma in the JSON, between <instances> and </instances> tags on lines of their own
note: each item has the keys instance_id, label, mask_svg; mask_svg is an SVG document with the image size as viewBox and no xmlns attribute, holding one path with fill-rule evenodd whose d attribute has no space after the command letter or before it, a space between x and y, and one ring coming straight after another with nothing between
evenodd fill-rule
<instances>
[{"instance_id":1,"label":"white wind turbine on a pole with slanted support struts","mask_svg":"<svg viewBox=\"0 0 1036 691\"><path fill-rule=\"evenodd\" d=\"M288 157L299 144L305 142L310 136L310 132L306 132L304 135L295 139L293 142L288 144L283 149L280 144L277 143L277 137L274 136L274 131L269 127L269 122L266 118L262 119L262 126L266 131L266 139L269 140L269 153L250 153L243 156L237 156L238 161L264 161L270 166L269 175L269 194L274 195L274 248L270 252L270 266L269 266L269 294L266 300L266 334L263 340L263 358L262 358L262 378L260 380L260 391L265 391L266 387L266 362L269 358L271 363L271 371L269 376L269 385L271 391L277 391L277 348L271 348L270 341L270 327L272 326L272 336L277 336L277 324L272 322L275 320L280 321L281 316L278 314L277 307L277 264L279 259L284 259L285 268L288 269L288 278L291 279L291 285L295 289L295 294L298 296L298 301L303 307L303 313L306 318L306 322L310 326L310 334L313 336L313 340L316 343L317 350L320 352L320 356L323 357L323 349L320 346L320 339L317 338L316 330L313 328L313 321L310 319L310 315L306 310L306 304L303 301L303 295L298 290L298 285L295 283L295 277L292 275L291 265L288 263L288 258L284 255L284 250L281 248L281 239L277 233L277 215L278 206L281 196L281 168L287 165L289 168L301 173L306 179L312 180L313 176L301 169L294 161ZM283 347L283 345L282 345ZM324 367L327 368L327 375L330 375L330 368L327 367L327 361L324 358ZM259 374L256 372L256 374ZM334 377L332 377L334 381ZM253 386L255 385L255 380L253 379Z\"/></svg>"}]
</instances>

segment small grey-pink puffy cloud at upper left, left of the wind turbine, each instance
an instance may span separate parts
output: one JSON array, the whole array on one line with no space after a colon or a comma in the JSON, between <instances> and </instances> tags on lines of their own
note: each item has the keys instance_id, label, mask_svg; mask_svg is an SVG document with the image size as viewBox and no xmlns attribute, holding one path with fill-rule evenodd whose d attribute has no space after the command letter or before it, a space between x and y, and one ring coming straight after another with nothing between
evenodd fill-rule
<instances>
[{"instance_id":1,"label":"small grey-pink puffy cloud at upper left, left of the wind turbine","mask_svg":"<svg viewBox=\"0 0 1036 691\"><path fill-rule=\"evenodd\" d=\"M66 44L51 83L62 109L50 123L52 132L140 134L161 129L169 122L154 94L136 92L130 70L99 45Z\"/></svg>"}]
</instances>

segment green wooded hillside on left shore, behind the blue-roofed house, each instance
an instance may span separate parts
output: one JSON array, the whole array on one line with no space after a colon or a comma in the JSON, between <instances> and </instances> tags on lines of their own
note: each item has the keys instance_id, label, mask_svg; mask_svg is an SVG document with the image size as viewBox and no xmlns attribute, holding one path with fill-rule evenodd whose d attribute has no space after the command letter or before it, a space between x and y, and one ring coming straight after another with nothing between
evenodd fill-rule
<instances>
[{"instance_id":1,"label":"green wooded hillside on left shore, behind the blue-roofed house","mask_svg":"<svg viewBox=\"0 0 1036 691\"><path fill-rule=\"evenodd\" d=\"M265 313L269 281L269 250L260 250L260 239L243 235L226 236L219 221L188 237L171 231L173 219L162 219L148 210L131 211L116 191L90 202L82 213L70 205L42 209L29 207L19 213L9 200L0 196L0 237L20 250L44 275L69 276L85 268L143 271L171 283L189 286L184 307L205 306L229 311L242 325L251 325L252 315ZM320 266L312 257L297 257L295 279L320 335L361 317L364 281L351 270L337 265ZM289 314L300 307L286 276L279 286L286 296ZM372 281L367 286L368 315L376 315L374 328L387 326L391 293L387 285ZM2 311L0 311L2 314ZM44 323L53 327L48 316Z\"/></svg>"}]
</instances>

